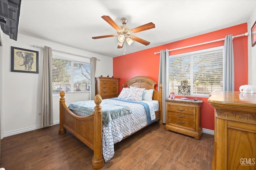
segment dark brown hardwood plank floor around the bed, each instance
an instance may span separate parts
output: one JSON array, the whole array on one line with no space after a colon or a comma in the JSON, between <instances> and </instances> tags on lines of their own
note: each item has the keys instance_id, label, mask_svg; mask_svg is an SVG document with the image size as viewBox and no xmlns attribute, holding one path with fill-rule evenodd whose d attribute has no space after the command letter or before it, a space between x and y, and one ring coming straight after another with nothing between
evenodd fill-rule
<instances>
[{"instance_id":1,"label":"dark brown hardwood plank floor around the bed","mask_svg":"<svg viewBox=\"0 0 256 170\"><path fill-rule=\"evenodd\" d=\"M6 170L90 170L93 152L59 125L2 139L0 167ZM114 158L102 169L210 170L214 136L201 140L165 131L153 123L115 145Z\"/></svg>"}]
</instances>

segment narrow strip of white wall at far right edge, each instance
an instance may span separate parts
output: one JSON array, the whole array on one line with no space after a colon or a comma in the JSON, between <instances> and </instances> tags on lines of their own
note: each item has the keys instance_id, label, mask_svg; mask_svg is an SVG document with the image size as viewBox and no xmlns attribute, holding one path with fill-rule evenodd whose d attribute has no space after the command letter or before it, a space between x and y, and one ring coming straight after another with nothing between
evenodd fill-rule
<instances>
[{"instance_id":1,"label":"narrow strip of white wall at far right edge","mask_svg":"<svg viewBox=\"0 0 256 170\"><path fill-rule=\"evenodd\" d=\"M256 86L256 45L252 47L252 25L256 21L256 6L248 20L248 84Z\"/></svg>"}]
</instances>

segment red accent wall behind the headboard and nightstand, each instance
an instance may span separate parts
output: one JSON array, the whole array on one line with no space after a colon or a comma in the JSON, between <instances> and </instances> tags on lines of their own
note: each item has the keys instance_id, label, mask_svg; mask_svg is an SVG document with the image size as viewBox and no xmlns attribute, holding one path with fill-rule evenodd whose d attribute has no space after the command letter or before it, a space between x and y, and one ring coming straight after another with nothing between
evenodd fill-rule
<instances>
[{"instance_id":1,"label":"red accent wall behind the headboard and nightstand","mask_svg":"<svg viewBox=\"0 0 256 170\"><path fill-rule=\"evenodd\" d=\"M226 35L240 35L247 32L247 23L235 25L218 31L205 33L195 37L190 37L173 43L168 43L158 47L153 47L136 53L114 57L113 59L113 75L120 78L119 89L122 90L122 84L134 76L148 76L158 83L158 70L160 54L154 54L164 49L176 49L188 45L204 43L216 39L225 38ZM136 43L136 42L134 42ZM201 49L223 46L223 41L209 43L196 47L170 51L170 55L186 53ZM248 38L247 36L237 37L233 39L234 47L234 65L235 65L235 91L239 91L239 87L248 84ZM132 45L128 48L132 48ZM157 90L157 89L156 89ZM179 96L177 96L179 98ZM201 125L202 128L214 130L214 108L208 103L208 98L186 96L186 98L197 98L203 100L201 107Z\"/></svg>"}]
</instances>

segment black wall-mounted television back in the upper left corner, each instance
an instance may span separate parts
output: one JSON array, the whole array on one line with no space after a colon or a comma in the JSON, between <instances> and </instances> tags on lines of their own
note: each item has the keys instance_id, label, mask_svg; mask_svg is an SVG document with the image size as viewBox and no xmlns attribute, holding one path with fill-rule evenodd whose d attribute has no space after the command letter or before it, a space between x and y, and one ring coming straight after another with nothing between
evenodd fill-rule
<instances>
[{"instance_id":1,"label":"black wall-mounted television back in the upper left corner","mask_svg":"<svg viewBox=\"0 0 256 170\"><path fill-rule=\"evenodd\" d=\"M0 25L2 31L17 41L21 0L0 0Z\"/></svg>"}]
</instances>

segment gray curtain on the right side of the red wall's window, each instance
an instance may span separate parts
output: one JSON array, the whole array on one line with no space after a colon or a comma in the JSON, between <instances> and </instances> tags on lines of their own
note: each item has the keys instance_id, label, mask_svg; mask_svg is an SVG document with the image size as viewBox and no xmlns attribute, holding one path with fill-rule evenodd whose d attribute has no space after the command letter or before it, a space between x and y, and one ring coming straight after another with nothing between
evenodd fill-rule
<instances>
[{"instance_id":1,"label":"gray curtain on the right side of the red wall's window","mask_svg":"<svg viewBox=\"0 0 256 170\"><path fill-rule=\"evenodd\" d=\"M224 41L223 91L234 91L234 51L232 35L226 35Z\"/></svg>"}]
</instances>

